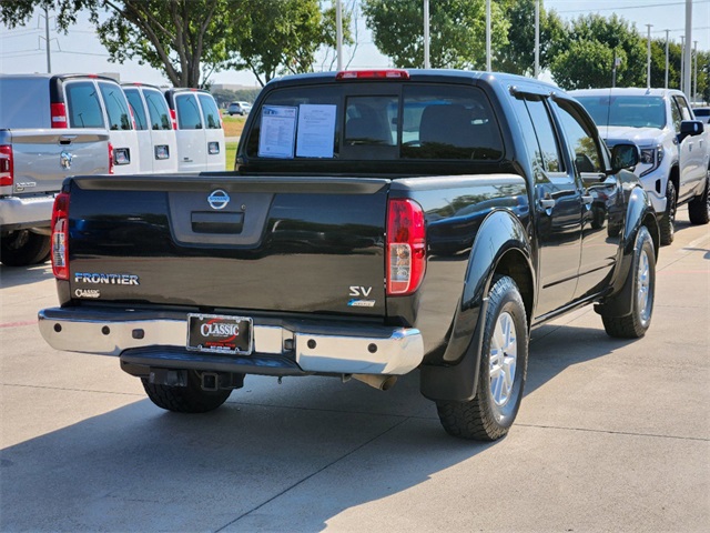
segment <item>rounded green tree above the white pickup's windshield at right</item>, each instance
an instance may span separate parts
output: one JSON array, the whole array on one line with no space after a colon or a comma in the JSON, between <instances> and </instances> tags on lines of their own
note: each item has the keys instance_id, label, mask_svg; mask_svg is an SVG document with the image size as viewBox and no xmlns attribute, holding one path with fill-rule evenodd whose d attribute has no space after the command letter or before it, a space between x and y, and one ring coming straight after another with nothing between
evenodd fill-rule
<instances>
[{"instance_id":1,"label":"rounded green tree above the white pickup's windshield at right","mask_svg":"<svg viewBox=\"0 0 710 533\"><path fill-rule=\"evenodd\" d=\"M611 86L613 56L620 59L618 87L646 86L646 40L636 26L612 14L579 17L567 24L564 38L554 42L550 71L565 89Z\"/></svg>"}]
</instances>

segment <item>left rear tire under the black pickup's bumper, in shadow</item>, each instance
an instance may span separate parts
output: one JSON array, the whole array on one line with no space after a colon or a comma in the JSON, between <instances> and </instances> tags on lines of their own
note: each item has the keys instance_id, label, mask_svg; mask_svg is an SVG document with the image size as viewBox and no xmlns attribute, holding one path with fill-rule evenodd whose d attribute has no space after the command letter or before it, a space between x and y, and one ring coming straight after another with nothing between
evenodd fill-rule
<instances>
[{"instance_id":1,"label":"left rear tire under the black pickup's bumper, in shadow","mask_svg":"<svg viewBox=\"0 0 710 533\"><path fill-rule=\"evenodd\" d=\"M155 385L141 378L145 394L151 402L161 409L175 413L206 413L222 405L232 391L203 391L200 386L200 375L190 371L187 386Z\"/></svg>"}]
</instances>

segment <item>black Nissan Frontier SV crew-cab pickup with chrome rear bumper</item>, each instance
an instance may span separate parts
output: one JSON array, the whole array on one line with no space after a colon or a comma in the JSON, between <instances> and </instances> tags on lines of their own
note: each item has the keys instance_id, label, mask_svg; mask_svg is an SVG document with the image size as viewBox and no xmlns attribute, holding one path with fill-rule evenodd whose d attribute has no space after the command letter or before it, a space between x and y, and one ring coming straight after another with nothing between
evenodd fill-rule
<instances>
[{"instance_id":1,"label":"black Nissan Frontier SV crew-cab pickup with chrome rear bumper","mask_svg":"<svg viewBox=\"0 0 710 533\"><path fill-rule=\"evenodd\" d=\"M234 172L68 179L53 348L114 355L159 406L219 408L245 374L388 389L418 369L444 429L495 440L531 328L596 304L650 323L659 230L585 110L535 80L344 71L268 83Z\"/></svg>"}]
</instances>

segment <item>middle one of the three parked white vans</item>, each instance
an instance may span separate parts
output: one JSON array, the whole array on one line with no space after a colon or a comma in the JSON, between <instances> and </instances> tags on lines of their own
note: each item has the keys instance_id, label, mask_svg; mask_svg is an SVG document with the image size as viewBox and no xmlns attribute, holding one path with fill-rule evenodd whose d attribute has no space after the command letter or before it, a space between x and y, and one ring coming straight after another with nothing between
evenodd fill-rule
<instances>
[{"instance_id":1,"label":"middle one of the three parked white vans","mask_svg":"<svg viewBox=\"0 0 710 533\"><path fill-rule=\"evenodd\" d=\"M178 138L162 91L145 83L121 83L135 120L141 172L178 172Z\"/></svg>"}]
</instances>

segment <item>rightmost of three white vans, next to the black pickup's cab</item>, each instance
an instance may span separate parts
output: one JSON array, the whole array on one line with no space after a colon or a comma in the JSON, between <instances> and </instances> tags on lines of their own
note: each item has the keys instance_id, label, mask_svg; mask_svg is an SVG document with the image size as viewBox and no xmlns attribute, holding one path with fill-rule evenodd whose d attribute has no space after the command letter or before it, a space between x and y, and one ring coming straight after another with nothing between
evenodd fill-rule
<instances>
[{"instance_id":1,"label":"rightmost of three white vans, next to the black pickup's cab","mask_svg":"<svg viewBox=\"0 0 710 533\"><path fill-rule=\"evenodd\" d=\"M225 170L224 129L212 94L199 89L169 89L165 100L178 135L179 170Z\"/></svg>"}]
</instances>

